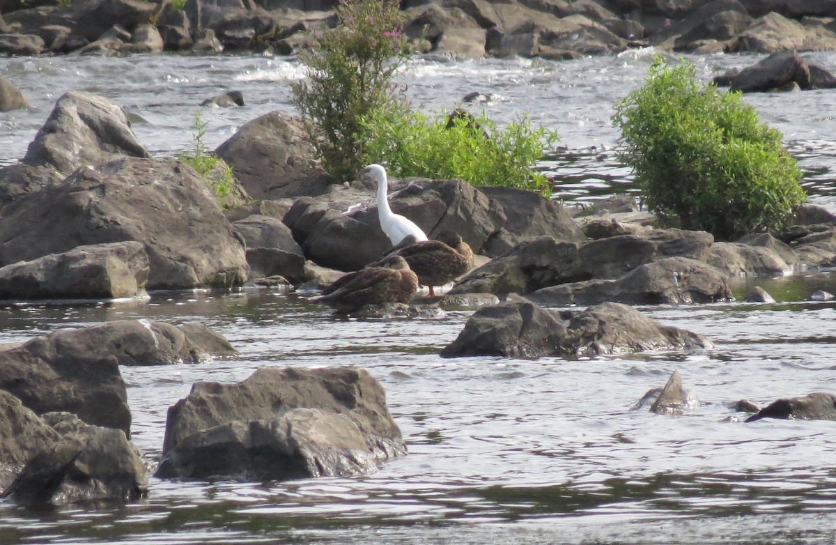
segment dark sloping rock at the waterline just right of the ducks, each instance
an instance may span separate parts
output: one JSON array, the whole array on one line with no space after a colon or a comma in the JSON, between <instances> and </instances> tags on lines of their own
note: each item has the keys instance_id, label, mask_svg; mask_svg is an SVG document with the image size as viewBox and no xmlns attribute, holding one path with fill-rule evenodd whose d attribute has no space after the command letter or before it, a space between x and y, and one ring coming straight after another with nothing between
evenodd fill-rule
<instances>
[{"instance_id":1,"label":"dark sloping rock at the waterline just right of the ducks","mask_svg":"<svg viewBox=\"0 0 836 545\"><path fill-rule=\"evenodd\" d=\"M522 242L511 252L468 272L449 295L465 293L531 293L540 288L589 278L579 262L577 242L539 237Z\"/></svg>"}]
</instances>

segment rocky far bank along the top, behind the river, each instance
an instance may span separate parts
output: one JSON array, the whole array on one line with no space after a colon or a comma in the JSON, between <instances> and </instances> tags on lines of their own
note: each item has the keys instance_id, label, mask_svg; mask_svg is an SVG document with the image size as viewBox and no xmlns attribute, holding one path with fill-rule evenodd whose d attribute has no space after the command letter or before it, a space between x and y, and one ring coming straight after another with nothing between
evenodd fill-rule
<instances>
[{"instance_id":1,"label":"rocky far bank along the top, behind the river","mask_svg":"<svg viewBox=\"0 0 836 545\"><path fill-rule=\"evenodd\" d=\"M291 55L335 23L334 0L38 0L0 4L0 53ZM421 53L573 59L652 46L691 53L836 48L836 6L770 0L406 1Z\"/></svg>"}]
</instances>

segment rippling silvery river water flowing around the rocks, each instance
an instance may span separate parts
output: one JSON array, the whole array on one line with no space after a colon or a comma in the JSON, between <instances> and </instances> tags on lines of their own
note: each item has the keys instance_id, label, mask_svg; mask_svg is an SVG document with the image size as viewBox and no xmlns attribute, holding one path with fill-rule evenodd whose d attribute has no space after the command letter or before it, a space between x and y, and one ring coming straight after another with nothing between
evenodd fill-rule
<instances>
[{"instance_id":1,"label":"rippling silvery river water flowing around the rocks","mask_svg":"<svg viewBox=\"0 0 836 545\"><path fill-rule=\"evenodd\" d=\"M836 69L836 53L811 59ZM757 57L692 57L701 77ZM543 161L567 204L632 191L614 154L612 104L645 78L650 52L567 62L416 59L400 77L413 104L452 109L472 91L502 124L528 114L558 130ZM214 148L272 110L293 111L288 59L262 56L135 56L127 59L0 59L33 110L0 114L0 163L22 157L55 99L103 94L132 115L156 156L191 146L197 111ZM227 89L247 103L197 106ZM836 211L836 91L747 96L782 130L805 171L811 201ZM829 272L740 279L762 285L771 305L728 303L642 308L706 335L691 353L536 361L441 359L470 311L444 319L332 318L302 295L153 293L150 301L0 307L0 342L121 318L202 323L227 336L236 359L122 369L133 441L150 466L161 456L166 410L197 380L245 379L263 365L356 365L387 391L409 455L372 476L291 481L150 479L150 495L125 507L33 512L0 503L0 543L829 543L836 541L833 423L743 424L736 400L833 391L836 292ZM702 405L682 416L630 410L679 370Z\"/></svg>"}]
</instances>

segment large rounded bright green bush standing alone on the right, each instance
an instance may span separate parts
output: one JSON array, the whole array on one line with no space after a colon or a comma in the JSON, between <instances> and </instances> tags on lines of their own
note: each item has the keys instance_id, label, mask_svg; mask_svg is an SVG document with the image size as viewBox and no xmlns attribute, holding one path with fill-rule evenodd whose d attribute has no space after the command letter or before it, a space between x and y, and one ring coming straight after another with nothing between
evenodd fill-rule
<instances>
[{"instance_id":1,"label":"large rounded bright green bush standing alone on the right","mask_svg":"<svg viewBox=\"0 0 836 545\"><path fill-rule=\"evenodd\" d=\"M691 63L660 57L645 85L615 105L624 162L650 211L721 239L787 225L806 195L778 130L739 93L701 88Z\"/></svg>"}]
</instances>

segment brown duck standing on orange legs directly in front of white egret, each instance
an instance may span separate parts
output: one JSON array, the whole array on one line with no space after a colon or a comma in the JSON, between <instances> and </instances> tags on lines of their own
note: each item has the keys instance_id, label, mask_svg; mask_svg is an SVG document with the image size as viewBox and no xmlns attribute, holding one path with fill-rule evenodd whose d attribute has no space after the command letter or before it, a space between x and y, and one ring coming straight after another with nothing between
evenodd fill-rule
<instances>
[{"instance_id":1,"label":"brown duck standing on orange legs directly in front of white egret","mask_svg":"<svg viewBox=\"0 0 836 545\"><path fill-rule=\"evenodd\" d=\"M450 283L473 267L471 247L454 232L442 232L433 241L414 242L408 237L405 242L389 256L403 257L418 276L418 282L430 288L431 297L435 295L434 286Z\"/></svg>"}]
</instances>

